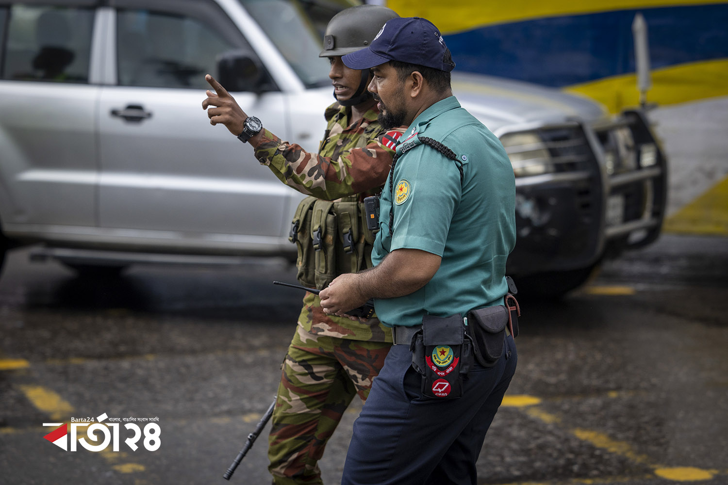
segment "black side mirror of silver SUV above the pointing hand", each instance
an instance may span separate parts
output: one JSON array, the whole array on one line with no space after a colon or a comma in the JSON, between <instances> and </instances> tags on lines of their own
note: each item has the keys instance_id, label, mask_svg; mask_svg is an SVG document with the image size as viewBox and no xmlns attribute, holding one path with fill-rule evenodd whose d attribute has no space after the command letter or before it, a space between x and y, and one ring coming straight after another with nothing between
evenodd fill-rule
<instances>
[{"instance_id":1,"label":"black side mirror of silver SUV above the pointing hand","mask_svg":"<svg viewBox=\"0 0 728 485\"><path fill-rule=\"evenodd\" d=\"M223 52L218 57L218 81L228 91L266 92L275 89L260 61L248 52Z\"/></svg>"}]
</instances>

